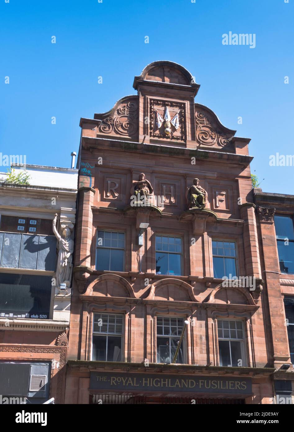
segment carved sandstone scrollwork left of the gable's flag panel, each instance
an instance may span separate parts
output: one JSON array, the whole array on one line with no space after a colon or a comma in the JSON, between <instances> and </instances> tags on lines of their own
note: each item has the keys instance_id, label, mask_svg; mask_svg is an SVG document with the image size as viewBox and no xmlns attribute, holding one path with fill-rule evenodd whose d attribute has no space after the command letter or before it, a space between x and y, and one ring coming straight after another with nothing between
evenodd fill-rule
<instances>
[{"instance_id":1,"label":"carved sandstone scrollwork left of the gable's flag panel","mask_svg":"<svg viewBox=\"0 0 294 432\"><path fill-rule=\"evenodd\" d=\"M127 102L119 105L112 116L101 121L98 132L134 135L138 130L138 105Z\"/></svg>"}]
</instances>

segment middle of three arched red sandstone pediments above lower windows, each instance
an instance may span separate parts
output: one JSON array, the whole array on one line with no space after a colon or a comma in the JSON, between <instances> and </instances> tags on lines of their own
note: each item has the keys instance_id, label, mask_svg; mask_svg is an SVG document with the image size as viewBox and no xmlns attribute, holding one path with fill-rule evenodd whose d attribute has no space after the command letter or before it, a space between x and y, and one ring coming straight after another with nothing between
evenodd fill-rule
<instances>
[{"instance_id":1,"label":"middle of three arched red sandstone pediments above lower windows","mask_svg":"<svg viewBox=\"0 0 294 432\"><path fill-rule=\"evenodd\" d=\"M198 302L189 283L179 279L161 279L150 285L147 300L173 300Z\"/></svg>"}]
</instances>

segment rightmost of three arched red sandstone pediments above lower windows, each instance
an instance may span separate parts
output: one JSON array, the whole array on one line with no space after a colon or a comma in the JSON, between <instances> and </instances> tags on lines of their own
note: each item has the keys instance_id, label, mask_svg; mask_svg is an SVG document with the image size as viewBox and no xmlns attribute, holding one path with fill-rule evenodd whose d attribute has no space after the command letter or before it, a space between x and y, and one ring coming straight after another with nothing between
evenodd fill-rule
<instances>
[{"instance_id":1,"label":"rightmost of three arched red sandstone pediments above lower windows","mask_svg":"<svg viewBox=\"0 0 294 432\"><path fill-rule=\"evenodd\" d=\"M255 306L252 295L248 292L247 288L243 288L242 286L224 288L218 285L211 292L208 303Z\"/></svg>"}]
</instances>

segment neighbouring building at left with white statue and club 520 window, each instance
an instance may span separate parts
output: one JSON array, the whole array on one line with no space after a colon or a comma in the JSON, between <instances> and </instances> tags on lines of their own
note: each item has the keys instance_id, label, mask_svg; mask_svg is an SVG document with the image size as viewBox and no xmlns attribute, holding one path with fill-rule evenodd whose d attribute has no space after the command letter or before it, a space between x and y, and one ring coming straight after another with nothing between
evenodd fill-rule
<instances>
[{"instance_id":1,"label":"neighbouring building at left with white statue and club 520 window","mask_svg":"<svg viewBox=\"0 0 294 432\"><path fill-rule=\"evenodd\" d=\"M0 172L0 387L62 403L72 285L60 275L71 274L78 170L26 165L26 174L29 184L11 184Z\"/></svg>"}]
</instances>

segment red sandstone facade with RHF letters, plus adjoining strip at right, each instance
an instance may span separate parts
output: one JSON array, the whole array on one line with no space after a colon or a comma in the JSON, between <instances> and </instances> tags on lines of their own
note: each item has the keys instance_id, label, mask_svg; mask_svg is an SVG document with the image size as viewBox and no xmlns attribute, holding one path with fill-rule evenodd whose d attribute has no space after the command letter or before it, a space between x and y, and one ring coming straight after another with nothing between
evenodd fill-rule
<instances>
[{"instance_id":1,"label":"red sandstone facade with RHF letters, plus adjoining strip at right","mask_svg":"<svg viewBox=\"0 0 294 432\"><path fill-rule=\"evenodd\" d=\"M278 205L253 193L250 140L195 103L178 64L152 63L133 86L80 122L65 403L291 395L293 276L265 210Z\"/></svg>"}]
</instances>

